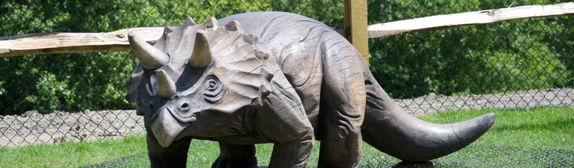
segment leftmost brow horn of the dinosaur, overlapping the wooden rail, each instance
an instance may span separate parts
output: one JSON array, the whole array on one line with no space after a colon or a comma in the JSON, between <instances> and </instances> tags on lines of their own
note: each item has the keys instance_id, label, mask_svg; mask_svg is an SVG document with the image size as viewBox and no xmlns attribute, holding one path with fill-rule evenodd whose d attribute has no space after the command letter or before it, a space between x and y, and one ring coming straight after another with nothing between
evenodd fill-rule
<instances>
[{"instance_id":1,"label":"leftmost brow horn of the dinosaur, overlapping the wooden rail","mask_svg":"<svg viewBox=\"0 0 574 168\"><path fill-rule=\"evenodd\" d=\"M168 54L149 45L148 42L140 38L138 34L130 32L127 34L131 50L134 51L135 57L139 59L145 69L158 69L169 62Z\"/></svg>"}]
</instances>

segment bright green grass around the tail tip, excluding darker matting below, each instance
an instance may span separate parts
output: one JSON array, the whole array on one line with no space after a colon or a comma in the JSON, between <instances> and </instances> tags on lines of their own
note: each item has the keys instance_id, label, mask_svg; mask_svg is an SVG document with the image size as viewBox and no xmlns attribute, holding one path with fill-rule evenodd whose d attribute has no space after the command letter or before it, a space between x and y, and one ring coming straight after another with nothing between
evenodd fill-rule
<instances>
[{"instance_id":1,"label":"bright green grass around the tail tip, excluding darker matting below","mask_svg":"<svg viewBox=\"0 0 574 168\"><path fill-rule=\"evenodd\" d=\"M452 123L486 113L496 114L497 119L474 145L574 149L574 109L567 107L445 111L418 118L432 123Z\"/></svg>"}]
</instances>

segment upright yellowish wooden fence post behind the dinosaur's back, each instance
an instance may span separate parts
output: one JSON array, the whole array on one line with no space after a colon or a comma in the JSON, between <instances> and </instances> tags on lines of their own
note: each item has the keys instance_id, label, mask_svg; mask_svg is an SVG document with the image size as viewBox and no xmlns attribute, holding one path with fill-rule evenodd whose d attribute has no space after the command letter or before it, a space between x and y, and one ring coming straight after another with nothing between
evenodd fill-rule
<instances>
[{"instance_id":1,"label":"upright yellowish wooden fence post behind the dinosaur's back","mask_svg":"<svg viewBox=\"0 0 574 168\"><path fill-rule=\"evenodd\" d=\"M367 0L344 1L344 26L347 39L369 65L369 34L367 33Z\"/></svg>"}]
</instances>

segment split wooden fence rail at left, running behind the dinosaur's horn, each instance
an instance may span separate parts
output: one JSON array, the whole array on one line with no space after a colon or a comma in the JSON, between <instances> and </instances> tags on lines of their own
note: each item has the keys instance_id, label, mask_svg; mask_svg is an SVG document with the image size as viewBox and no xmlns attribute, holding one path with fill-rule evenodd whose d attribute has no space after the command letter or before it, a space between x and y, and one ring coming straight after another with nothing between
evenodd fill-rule
<instances>
[{"instance_id":1,"label":"split wooden fence rail at left, running behind the dinosaur's horn","mask_svg":"<svg viewBox=\"0 0 574 168\"><path fill-rule=\"evenodd\" d=\"M137 27L110 33L33 33L0 37L0 58L28 54L108 53L131 50L127 33L135 31L145 41L159 39L159 27Z\"/></svg>"}]
</instances>

